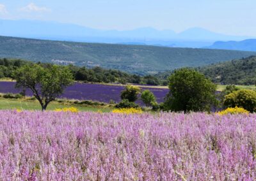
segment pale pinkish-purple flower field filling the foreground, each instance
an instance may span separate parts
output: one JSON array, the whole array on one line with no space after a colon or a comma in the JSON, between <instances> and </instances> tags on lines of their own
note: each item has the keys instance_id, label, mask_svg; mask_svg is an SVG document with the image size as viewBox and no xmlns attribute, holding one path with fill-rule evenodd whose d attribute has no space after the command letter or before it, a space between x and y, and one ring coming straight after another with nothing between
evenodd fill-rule
<instances>
[{"instance_id":1,"label":"pale pinkish-purple flower field filling the foreground","mask_svg":"<svg viewBox=\"0 0 256 181\"><path fill-rule=\"evenodd\" d=\"M256 115L0 111L0 180L256 180Z\"/></svg>"}]
</instances>

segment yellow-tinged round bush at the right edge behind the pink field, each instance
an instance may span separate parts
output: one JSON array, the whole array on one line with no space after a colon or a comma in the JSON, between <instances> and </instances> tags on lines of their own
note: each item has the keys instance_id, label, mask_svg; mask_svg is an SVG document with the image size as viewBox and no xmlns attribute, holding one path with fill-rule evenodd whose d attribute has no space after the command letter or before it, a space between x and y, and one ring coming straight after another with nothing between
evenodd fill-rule
<instances>
[{"instance_id":1,"label":"yellow-tinged round bush at the right edge behind the pink field","mask_svg":"<svg viewBox=\"0 0 256 181\"><path fill-rule=\"evenodd\" d=\"M256 92L252 90L239 90L225 96L224 105L227 107L241 107L249 112L256 111Z\"/></svg>"}]
</instances>

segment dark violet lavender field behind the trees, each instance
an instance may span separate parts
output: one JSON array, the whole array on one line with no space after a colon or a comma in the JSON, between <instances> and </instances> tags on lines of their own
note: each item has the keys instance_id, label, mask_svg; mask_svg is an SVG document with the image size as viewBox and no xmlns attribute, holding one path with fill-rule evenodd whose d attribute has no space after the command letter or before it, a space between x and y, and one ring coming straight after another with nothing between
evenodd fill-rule
<instances>
[{"instance_id":1,"label":"dark violet lavender field behind the trees","mask_svg":"<svg viewBox=\"0 0 256 181\"><path fill-rule=\"evenodd\" d=\"M102 85L90 83L75 83L68 87L61 98L92 100L104 103L109 103L113 100L116 103L120 102L120 93L124 89L118 85ZM143 88L145 89L145 88ZM164 97L168 94L168 89L147 88L154 93L159 103L164 101ZM0 82L1 93L19 93L20 89L15 89L15 82ZM26 91L28 96L31 96L31 91Z\"/></svg>"}]
</instances>

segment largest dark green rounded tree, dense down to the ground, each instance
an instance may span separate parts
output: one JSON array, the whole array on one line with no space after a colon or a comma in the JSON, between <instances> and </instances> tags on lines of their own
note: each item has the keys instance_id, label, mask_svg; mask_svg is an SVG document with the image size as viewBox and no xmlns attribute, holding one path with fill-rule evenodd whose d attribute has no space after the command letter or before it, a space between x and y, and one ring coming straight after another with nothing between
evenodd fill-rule
<instances>
[{"instance_id":1,"label":"largest dark green rounded tree, dense down to the ground","mask_svg":"<svg viewBox=\"0 0 256 181\"><path fill-rule=\"evenodd\" d=\"M164 103L165 110L174 112L210 111L216 104L216 85L194 69L182 68L169 77L170 92Z\"/></svg>"}]
</instances>

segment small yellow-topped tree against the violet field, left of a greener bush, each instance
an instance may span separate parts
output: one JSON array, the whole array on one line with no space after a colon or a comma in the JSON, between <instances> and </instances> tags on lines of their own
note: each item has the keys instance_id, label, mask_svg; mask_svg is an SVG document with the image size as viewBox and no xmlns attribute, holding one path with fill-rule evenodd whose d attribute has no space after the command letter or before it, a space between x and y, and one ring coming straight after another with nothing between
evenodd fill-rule
<instances>
[{"instance_id":1,"label":"small yellow-topped tree against the violet field, left of a greener bush","mask_svg":"<svg viewBox=\"0 0 256 181\"><path fill-rule=\"evenodd\" d=\"M122 99L128 99L129 102L135 102L138 99L141 89L135 85L127 85L121 93Z\"/></svg>"}]
</instances>

